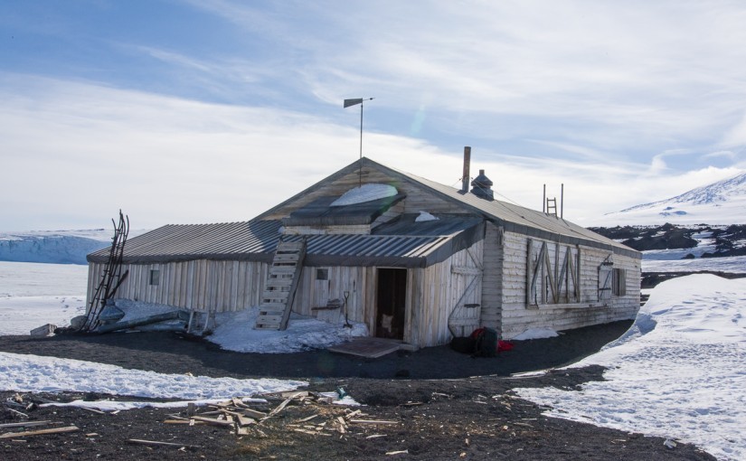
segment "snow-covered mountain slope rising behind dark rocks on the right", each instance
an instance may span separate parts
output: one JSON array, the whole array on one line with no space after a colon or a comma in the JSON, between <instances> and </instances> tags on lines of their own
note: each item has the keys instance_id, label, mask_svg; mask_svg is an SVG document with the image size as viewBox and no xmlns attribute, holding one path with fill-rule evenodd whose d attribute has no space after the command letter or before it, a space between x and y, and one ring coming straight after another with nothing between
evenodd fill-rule
<instances>
[{"instance_id":1,"label":"snow-covered mountain slope rising behind dark rocks on the right","mask_svg":"<svg viewBox=\"0 0 746 461\"><path fill-rule=\"evenodd\" d=\"M746 223L746 173L673 198L605 214L598 226Z\"/></svg>"}]
</instances>

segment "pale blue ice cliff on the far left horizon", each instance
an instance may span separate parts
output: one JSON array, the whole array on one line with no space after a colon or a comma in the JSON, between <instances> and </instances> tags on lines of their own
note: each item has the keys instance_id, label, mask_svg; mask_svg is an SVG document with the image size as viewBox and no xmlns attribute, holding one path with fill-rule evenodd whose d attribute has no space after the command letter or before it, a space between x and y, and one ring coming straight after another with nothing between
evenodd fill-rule
<instances>
[{"instance_id":1,"label":"pale blue ice cliff on the far left horizon","mask_svg":"<svg viewBox=\"0 0 746 461\"><path fill-rule=\"evenodd\" d=\"M0 233L0 261L87 264L86 255L108 247L112 235L104 229Z\"/></svg>"}]
</instances>

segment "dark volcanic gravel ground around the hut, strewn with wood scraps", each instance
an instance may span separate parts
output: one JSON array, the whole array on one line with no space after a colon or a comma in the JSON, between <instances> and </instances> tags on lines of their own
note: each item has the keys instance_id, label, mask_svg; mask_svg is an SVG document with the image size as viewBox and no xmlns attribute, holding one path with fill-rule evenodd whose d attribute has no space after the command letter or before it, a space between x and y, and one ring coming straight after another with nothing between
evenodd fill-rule
<instances>
[{"instance_id":1,"label":"dark volcanic gravel ground around the hut, strewn with wood scraps","mask_svg":"<svg viewBox=\"0 0 746 461\"><path fill-rule=\"evenodd\" d=\"M542 415L543 408L517 399L515 387L577 389L602 380L603 369L553 371L531 378L507 377L560 366L596 352L622 334L629 322L583 328L558 338L515 343L492 359L476 359L436 347L362 360L326 352L296 354L229 353L210 343L176 334L100 336L0 336L0 351L33 353L117 364L166 373L236 378L300 378L309 390L343 387L364 404L363 419L396 424L356 424L344 434L312 435L295 430L302 419L332 424L350 409L335 405L288 405L278 416L250 426L237 437L214 426L170 425L168 415L185 409L137 409L99 414L85 409L43 407L45 400L98 400L104 395L0 392L0 424L53 420L80 430L35 437L7 437L19 429L0 428L0 459L714 459L696 447L664 447L664 439L598 428ZM142 400L142 399L138 399ZM29 404L33 403L29 407ZM13 411L13 409L15 411ZM310 423L305 423L310 424ZM324 431L322 431L324 432ZM376 437L371 437L376 436ZM174 442L194 447L146 447L129 439ZM396 454L387 455L387 453Z\"/></svg>"}]
</instances>

